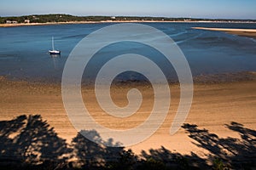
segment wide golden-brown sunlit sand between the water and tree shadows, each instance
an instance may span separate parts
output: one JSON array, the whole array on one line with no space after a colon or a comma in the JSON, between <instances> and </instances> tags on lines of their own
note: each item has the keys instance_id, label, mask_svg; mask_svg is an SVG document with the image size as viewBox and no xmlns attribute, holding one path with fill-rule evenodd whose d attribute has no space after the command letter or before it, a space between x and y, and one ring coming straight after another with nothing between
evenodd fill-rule
<instances>
[{"instance_id":1,"label":"wide golden-brown sunlit sand between the water and tree shadows","mask_svg":"<svg viewBox=\"0 0 256 170\"><path fill-rule=\"evenodd\" d=\"M243 76L244 77L244 76ZM194 99L189 116L185 123L196 124L200 128L206 128L215 133L219 138L240 138L239 133L226 128L225 124L238 122L244 127L256 130L256 74L250 73L246 79L236 81L206 82L199 78L195 81ZM112 87L112 97L116 105L127 105L125 94L127 90L137 87L143 93L143 105L133 116L125 119L108 116L96 104L93 88L82 88L84 101L89 108L91 116L102 125L115 128L127 129L136 127L148 117L152 109L153 91L145 84L122 84ZM131 148L137 154L141 150L158 149L161 146L168 150L181 154L194 152L198 156L205 156L207 150L195 145L195 140L189 138L184 128L174 135L169 134L172 119L177 111L179 102L178 84L170 85L172 103L166 121L160 129L149 139ZM164 101L165 99L163 99ZM13 82L4 77L0 78L0 121L14 119L20 115L39 114L46 120L59 137L67 139L67 143L77 135L77 131L67 118L61 99L61 85L54 83L36 82ZM136 137L136 134L131 138Z\"/></svg>"}]
</instances>

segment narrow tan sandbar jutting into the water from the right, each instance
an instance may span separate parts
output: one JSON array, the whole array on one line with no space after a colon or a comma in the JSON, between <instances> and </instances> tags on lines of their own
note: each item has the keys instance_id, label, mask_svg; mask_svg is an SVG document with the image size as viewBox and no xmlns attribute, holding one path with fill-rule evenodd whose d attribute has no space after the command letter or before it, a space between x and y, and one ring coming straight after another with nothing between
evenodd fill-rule
<instances>
[{"instance_id":1,"label":"narrow tan sandbar jutting into the water from the right","mask_svg":"<svg viewBox=\"0 0 256 170\"><path fill-rule=\"evenodd\" d=\"M208 27L193 27L193 29L207 30L207 31L224 31L224 32L235 34L238 36L256 38L256 29L208 28Z\"/></svg>"}]
</instances>

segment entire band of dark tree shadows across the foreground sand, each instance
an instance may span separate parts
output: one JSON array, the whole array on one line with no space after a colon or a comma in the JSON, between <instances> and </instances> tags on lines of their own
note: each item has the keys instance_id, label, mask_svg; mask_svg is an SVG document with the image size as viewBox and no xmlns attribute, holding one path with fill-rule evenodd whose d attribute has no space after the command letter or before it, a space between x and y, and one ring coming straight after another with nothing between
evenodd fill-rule
<instances>
[{"instance_id":1,"label":"entire band of dark tree shadows across the foreground sand","mask_svg":"<svg viewBox=\"0 0 256 170\"><path fill-rule=\"evenodd\" d=\"M256 167L256 131L238 122L224 125L240 139L219 138L195 124L183 128L197 147L208 150L206 157L182 155L160 149L132 150L119 147L113 139L103 141L95 130L81 131L71 144L58 137L42 116L18 116L0 122L1 169L253 169ZM99 144L85 139L89 134ZM114 147L105 147L108 143Z\"/></svg>"}]
</instances>

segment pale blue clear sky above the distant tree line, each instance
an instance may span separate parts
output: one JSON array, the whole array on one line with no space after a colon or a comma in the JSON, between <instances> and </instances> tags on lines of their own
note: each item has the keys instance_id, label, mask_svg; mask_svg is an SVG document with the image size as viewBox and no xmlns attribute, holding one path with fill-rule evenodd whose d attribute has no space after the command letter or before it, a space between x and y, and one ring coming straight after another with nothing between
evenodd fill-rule
<instances>
[{"instance_id":1,"label":"pale blue clear sky above the distant tree line","mask_svg":"<svg viewBox=\"0 0 256 170\"><path fill-rule=\"evenodd\" d=\"M256 0L1 0L0 16L73 14L256 20Z\"/></svg>"}]
</instances>

